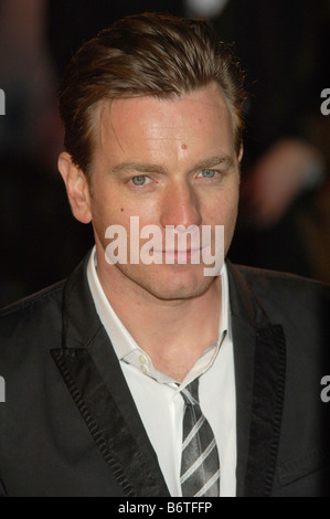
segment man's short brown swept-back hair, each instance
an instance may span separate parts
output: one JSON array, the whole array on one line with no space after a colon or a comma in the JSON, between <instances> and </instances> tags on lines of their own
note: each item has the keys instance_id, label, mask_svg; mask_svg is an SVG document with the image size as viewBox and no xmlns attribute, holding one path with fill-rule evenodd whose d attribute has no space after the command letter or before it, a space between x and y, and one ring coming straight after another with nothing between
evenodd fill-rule
<instances>
[{"instance_id":1,"label":"man's short brown swept-back hair","mask_svg":"<svg viewBox=\"0 0 330 519\"><path fill-rule=\"evenodd\" d=\"M231 110L238 153L244 74L232 46L205 20L160 13L126 17L86 42L64 73L58 100L65 149L88 178L95 110L102 100L175 98L212 82L221 87Z\"/></svg>"}]
</instances>

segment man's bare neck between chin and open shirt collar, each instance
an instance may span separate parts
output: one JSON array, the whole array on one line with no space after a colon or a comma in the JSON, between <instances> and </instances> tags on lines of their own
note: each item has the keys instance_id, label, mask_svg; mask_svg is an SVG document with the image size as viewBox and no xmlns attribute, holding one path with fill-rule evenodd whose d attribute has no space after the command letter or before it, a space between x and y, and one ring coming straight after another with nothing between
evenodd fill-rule
<instances>
[{"instance_id":1,"label":"man's bare neck between chin and open shirt collar","mask_svg":"<svg viewBox=\"0 0 330 519\"><path fill-rule=\"evenodd\" d=\"M178 381L219 337L220 276L201 295L171 300L155 297L134 282L123 283L114 266L106 272L98 268L98 278L117 316L156 369Z\"/></svg>"}]
</instances>

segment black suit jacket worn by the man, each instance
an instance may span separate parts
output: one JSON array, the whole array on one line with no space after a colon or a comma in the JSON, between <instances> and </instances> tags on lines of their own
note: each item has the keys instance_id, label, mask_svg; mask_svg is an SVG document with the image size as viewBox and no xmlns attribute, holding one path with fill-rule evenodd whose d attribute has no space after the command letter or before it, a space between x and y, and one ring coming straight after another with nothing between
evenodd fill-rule
<instances>
[{"instance_id":1,"label":"black suit jacket worn by the man","mask_svg":"<svg viewBox=\"0 0 330 519\"><path fill-rule=\"evenodd\" d=\"M2 310L2 494L169 497L95 311L86 263ZM330 495L330 403L320 399L330 374L329 287L231 264L228 276L237 496Z\"/></svg>"}]
</instances>

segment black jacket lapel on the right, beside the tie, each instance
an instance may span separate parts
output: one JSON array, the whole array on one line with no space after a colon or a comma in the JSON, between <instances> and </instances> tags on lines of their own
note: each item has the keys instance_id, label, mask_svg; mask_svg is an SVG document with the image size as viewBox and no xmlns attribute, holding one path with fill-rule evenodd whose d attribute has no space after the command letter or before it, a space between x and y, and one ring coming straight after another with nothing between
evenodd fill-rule
<instances>
[{"instance_id":1,"label":"black jacket lapel on the right, beside the tie","mask_svg":"<svg viewBox=\"0 0 330 519\"><path fill-rule=\"evenodd\" d=\"M236 380L237 496L269 496L285 388L285 337L228 264Z\"/></svg>"}]
</instances>

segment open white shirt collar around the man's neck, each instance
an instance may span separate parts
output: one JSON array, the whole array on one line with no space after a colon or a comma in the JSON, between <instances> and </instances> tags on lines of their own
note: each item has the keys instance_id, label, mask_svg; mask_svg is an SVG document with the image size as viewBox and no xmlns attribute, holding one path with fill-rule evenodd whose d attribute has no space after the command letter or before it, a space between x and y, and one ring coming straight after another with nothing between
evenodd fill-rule
<instances>
[{"instance_id":1,"label":"open white shirt collar around the man's neck","mask_svg":"<svg viewBox=\"0 0 330 519\"><path fill-rule=\"evenodd\" d=\"M108 301L103 287L97 276L97 257L96 247L94 246L87 265L87 279L89 289L98 317L108 333L114 350L119 360L135 366L145 374L152 377L160 383L173 383L173 379L159 372L152 364L150 357L137 345L131 335L123 325L121 320L113 309ZM195 366L192 368L188 377L184 379L182 385L190 383L195 377L201 375L213 364L215 357L219 352L221 343L230 329L230 300L228 300L228 278L226 265L223 265L221 272L222 280L222 305L219 326L219 339L214 341L198 359Z\"/></svg>"}]
</instances>

